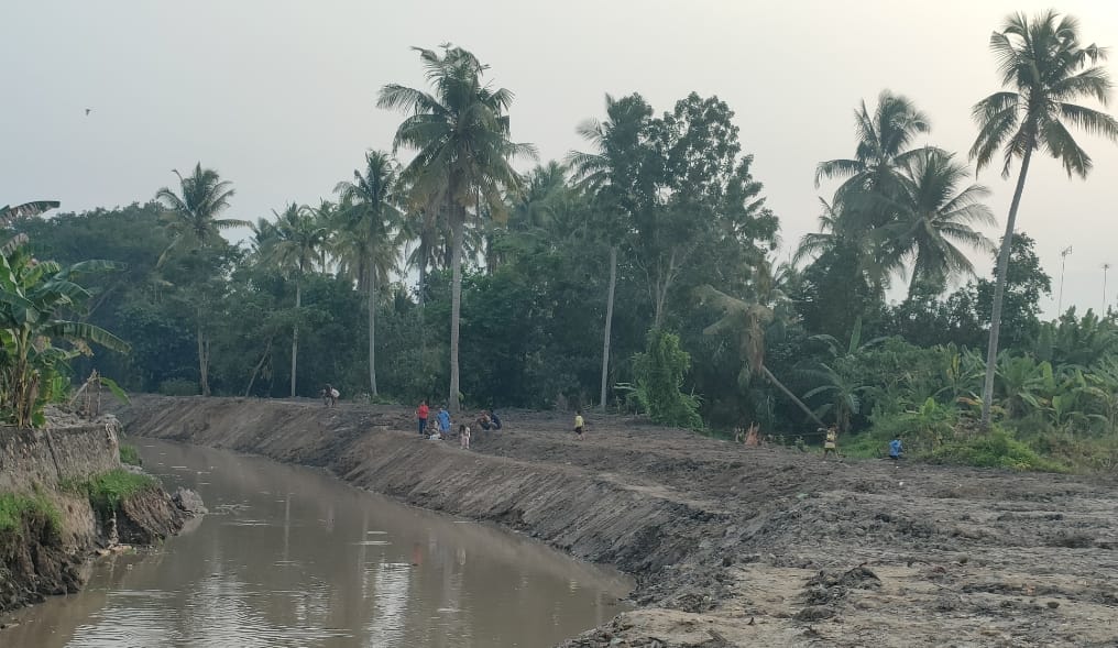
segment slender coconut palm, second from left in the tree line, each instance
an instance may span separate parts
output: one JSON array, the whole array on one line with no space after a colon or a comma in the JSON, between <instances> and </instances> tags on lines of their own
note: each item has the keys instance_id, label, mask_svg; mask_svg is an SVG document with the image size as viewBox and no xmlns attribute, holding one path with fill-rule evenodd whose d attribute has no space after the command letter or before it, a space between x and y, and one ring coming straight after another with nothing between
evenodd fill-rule
<instances>
[{"instance_id":1,"label":"slender coconut palm, second from left in the tree line","mask_svg":"<svg viewBox=\"0 0 1118 648\"><path fill-rule=\"evenodd\" d=\"M285 277L295 282L296 320L291 333L291 397L295 398L299 366L299 314L303 306L303 277L314 267L326 242L329 230L318 221L305 204L292 202L283 213L275 215L275 240L267 249L268 261Z\"/></svg>"}]
</instances>

